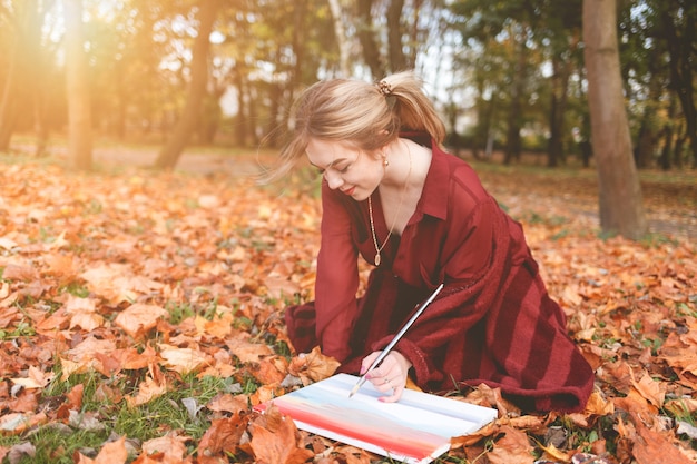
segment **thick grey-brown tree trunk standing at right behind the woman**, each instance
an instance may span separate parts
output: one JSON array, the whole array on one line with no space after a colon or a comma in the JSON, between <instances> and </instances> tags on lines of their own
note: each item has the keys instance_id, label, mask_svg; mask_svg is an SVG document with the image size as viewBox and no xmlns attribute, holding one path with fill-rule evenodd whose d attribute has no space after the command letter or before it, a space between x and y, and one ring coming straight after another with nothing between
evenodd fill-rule
<instances>
[{"instance_id":1,"label":"thick grey-brown tree trunk standing at right behind the woman","mask_svg":"<svg viewBox=\"0 0 697 464\"><path fill-rule=\"evenodd\" d=\"M638 239L647 227L622 96L616 0L583 0L583 37L600 226Z\"/></svg>"}]
</instances>

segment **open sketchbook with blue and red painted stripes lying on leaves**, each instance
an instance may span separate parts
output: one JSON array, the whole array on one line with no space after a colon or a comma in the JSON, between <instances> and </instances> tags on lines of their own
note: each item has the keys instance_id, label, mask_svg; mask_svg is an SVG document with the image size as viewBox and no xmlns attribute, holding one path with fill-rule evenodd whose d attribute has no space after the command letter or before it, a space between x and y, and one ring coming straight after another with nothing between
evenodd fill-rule
<instances>
[{"instance_id":1,"label":"open sketchbook with blue and red painted stripes lying on leaves","mask_svg":"<svg viewBox=\"0 0 697 464\"><path fill-rule=\"evenodd\" d=\"M359 377L333 377L271 403L297 428L406 463L429 463L450 450L450 440L469 435L497 418L497 411L430 393L405 389L397 403L377 401L371 383L348 397Z\"/></svg>"}]
</instances>

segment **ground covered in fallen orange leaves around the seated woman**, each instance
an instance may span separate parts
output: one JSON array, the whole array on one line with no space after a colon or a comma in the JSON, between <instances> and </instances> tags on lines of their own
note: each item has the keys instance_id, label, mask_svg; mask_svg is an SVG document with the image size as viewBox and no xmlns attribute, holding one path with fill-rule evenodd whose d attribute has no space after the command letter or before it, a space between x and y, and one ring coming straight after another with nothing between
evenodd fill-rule
<instances>
[{"instance_id":1,"label":"ground covered in fallen orange leaves around the seated woman","mask_svg":"<svg viewBox=\"0 0 697 464\"><path fill-rule=\"evenodd\" d=\"M483 385L452 392L499 418L440 461L695 462L694 179L647 181L661 233L632 243L600 237L590 171L479 168L523 223L597 388L567 415L522 414ZM252 411L336 367L292 353L283 325L288 302L313 297L316 180L281 191L220 170L9 164L0 184L3 462L379 460Z\"/></svg>"}]
</instances>

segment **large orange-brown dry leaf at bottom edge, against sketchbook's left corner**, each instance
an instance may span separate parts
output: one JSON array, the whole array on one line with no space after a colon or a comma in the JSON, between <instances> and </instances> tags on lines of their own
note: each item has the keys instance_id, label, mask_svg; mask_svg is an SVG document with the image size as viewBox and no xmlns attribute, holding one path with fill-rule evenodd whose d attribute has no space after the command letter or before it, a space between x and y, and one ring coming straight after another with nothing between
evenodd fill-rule
<instances>
[{"instance_id":1,"label":"large orange-brown dry leaf at bottom edge, against sketchbook's left corner","mask_svg":"<svg viewBox=\"0 0 697 464\"><path fill-rule=\"evenodd\" d=\"M249 425L252 451L259 464L301 464L314 453L298 447L298 432L289 416L285 416L273 404Z\"/></svg>"}]
</instances>

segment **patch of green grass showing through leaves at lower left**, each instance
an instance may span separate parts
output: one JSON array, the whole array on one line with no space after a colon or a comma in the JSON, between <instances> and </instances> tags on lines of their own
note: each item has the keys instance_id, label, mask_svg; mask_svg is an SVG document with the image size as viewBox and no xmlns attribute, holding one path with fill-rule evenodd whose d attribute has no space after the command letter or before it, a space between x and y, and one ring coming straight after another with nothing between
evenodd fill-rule
<instances>
[{"instance_id":1,"label":"patch of green grass showing through leaves at lower left","mask_svg":"<svg viewBox=\"0 0 697 464\"><path fill-rule=\"evenodd\" d=\"M56 369L60 378L60 368ZM105 378L98 373L71 375L68 381L53 383L45 391L41 402L46 407L57 408L66 401L66 394L76 385L84 385L82 407L73 412L63 423L52 422L22 435L0 435L0 446L30 443L36 448L33 456L26 455L17 464L72 464L73 454L97 453L109 437L127 436L141 444L151 438L177 432L198 443L210 426L210 413L205 405L219 393L253 393L258 385L249 375L238 382L194 375L177 381L173 388L151 402L129 407L126 401L108 399L104 388L121 393L135 393L137 383L145 373L124 375L118 379ZM192 445L189 453L195 453Z\"/></svg>"}]
</instances>

